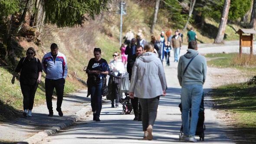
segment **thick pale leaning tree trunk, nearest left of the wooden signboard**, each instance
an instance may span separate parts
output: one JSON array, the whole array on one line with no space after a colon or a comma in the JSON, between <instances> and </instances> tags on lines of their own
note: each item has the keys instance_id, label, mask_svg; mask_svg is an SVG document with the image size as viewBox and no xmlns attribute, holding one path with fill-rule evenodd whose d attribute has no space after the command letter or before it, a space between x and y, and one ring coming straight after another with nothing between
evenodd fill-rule
<instances>
[{"instance_id":1,"label":"thick pale leaning tree trunk, nearest left of the wooden signboard","mask_svg":"<svg viewBox=\"0 0 256 144\"><path fill-rule=\"evenodd\" d=\"M224 2L224 7L223 7L223 12L221 16L221 21L220 21L220 26L218 29L218 34L216 39L214 40L214 43L221 43L224 38L225 30L226 30L226 23L228 19L228 13L230 10L230 1L231 0L225 0Z\"/></svg>"}]
</instances>

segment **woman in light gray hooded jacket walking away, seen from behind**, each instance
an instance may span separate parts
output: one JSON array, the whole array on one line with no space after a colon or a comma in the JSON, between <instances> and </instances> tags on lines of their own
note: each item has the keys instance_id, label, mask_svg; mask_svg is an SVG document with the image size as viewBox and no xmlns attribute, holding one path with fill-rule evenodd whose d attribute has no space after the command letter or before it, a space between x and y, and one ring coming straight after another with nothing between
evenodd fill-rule
<instances>
[{"instance_id":1,"label":"woman in light gray hooded jacket walking away, seen from behind","mask_svg":"<svg viewBox=\"0 0 256 144\"><path fill-rule=\"evenodd\" d=\"M166 79L161 60L148 43L132 68L130 97L139 98L142 108L143 139L152 140L152 129L157 117L159 97L166 95Z\"/></svg>"}]
</instances>

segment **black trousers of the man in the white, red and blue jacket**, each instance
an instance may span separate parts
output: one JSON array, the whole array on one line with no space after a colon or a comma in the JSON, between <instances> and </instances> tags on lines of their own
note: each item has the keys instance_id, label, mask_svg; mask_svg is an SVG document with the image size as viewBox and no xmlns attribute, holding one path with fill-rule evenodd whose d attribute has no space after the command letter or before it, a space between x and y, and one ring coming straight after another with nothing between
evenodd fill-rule
<instances>
[{"instance_id":1,"label":"black trousers of the man in the white, red and blue jacket","mask_svg":"<svg viewBox=\"0 0 256 144\"><path fill-rule=\"evenodd\" d=\"M57 94L57 108L56 110L61 110L63 92L65 86L65 79L45 79L45 94L46 94L46 104L49 111L53 111L53 90L55 88Z\"/></svg>"}]
</instances>

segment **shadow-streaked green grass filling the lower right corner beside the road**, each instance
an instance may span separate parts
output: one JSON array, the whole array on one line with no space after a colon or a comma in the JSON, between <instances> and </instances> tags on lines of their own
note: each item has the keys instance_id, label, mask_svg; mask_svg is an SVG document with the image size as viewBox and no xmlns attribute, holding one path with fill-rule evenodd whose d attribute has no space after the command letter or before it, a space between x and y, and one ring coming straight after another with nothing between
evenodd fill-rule
<instances>
[{"instance_id":1,"label":"shadow-streaked green grass filling the lower right corner beside the road","mask_svg":"<svg viewBox=\"0 0 256 144\"><path fill-rule=\"evenodd\" d=\"M223 110L231 118L231 137L236 143L255 143L256 137L256 83L224 85L210 92L214 108Z\"/></svg>"}]
</instances>

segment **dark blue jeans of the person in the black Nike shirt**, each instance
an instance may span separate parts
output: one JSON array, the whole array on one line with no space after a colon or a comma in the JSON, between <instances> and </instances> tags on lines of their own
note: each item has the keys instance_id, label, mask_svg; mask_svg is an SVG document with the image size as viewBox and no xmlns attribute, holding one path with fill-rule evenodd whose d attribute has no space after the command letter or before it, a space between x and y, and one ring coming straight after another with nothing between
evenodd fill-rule
<instances>
[{"instance_id":1,"label":"dark blue jeans of the person in the black Nike shirt","mask_svg":"<svg viewBox=\"0 0 256 144\"><path fill-rule=\"evenodd\" d=\"M102 111L102 84L101 79L90 86L92 111L98 117Z\"/></svg>"}]
</instances>

